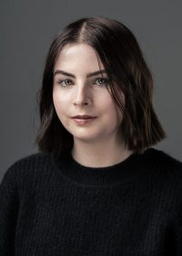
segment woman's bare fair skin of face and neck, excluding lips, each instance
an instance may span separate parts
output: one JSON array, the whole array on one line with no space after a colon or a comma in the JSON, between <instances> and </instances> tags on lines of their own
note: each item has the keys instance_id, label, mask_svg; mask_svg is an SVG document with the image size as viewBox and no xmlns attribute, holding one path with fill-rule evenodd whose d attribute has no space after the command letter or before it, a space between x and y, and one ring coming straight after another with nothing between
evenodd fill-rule
<instances>
[{"instance_id":1,"label":"woman's bare fair skin of face and neck, excluding lips","mask_svg":"<svg viewBox=\"0 0 182 256\"><path fill-rule=\"evenodd\" d=\"M104 167L122 162L132 152L125 148L118 130L122 114L116 111L116 103L106 90L106 73L87 76L96 71L99 66L93 48L66 45L56 60L53 101L60 122L73 135L74 159L81 165ZM78 114L96 118L76 123L72 117Z\"/></svg>"}]
</instances>

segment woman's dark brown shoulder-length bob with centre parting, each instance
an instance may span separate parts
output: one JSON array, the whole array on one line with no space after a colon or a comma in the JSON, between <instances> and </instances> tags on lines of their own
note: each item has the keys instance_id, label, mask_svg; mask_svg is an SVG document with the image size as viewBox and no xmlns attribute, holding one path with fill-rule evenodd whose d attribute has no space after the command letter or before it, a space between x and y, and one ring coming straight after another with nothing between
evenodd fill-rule
<instances>
[{"instance_id":1,"label":"woman's dark brown shoulder-length bob with centre parting","mask_svg":"<svg viewBox=\"0 0 182 256\"><path fill-rule=\"evenodd\" d=\"M153 79L136 37L122 23L103 16L72 22L54 39L45 61L42 88L38 91L40 126L35 144L41 152L70 152L73 135L57 117L53 102L56 59L67 44L91 46L103 63L109 79L109 93L123 114L120 131L127 149L142 154L167 137L152 105ZM125 96L125 106L121 99Z\"/></svg>"}]
</instances>

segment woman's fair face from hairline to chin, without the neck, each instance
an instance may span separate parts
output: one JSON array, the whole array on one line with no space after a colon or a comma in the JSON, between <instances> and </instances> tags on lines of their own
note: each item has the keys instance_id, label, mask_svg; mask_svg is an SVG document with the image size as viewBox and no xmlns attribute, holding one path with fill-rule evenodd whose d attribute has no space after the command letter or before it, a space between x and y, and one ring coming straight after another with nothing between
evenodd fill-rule
<instances>
[{"instance_id":1,"label":"woman's fair face from hairline to chin, without the neck","mask_svg":"<svg viewBox=\"0 0 182 256\"><path fill-rule=\"evenodd\" d=\"M54 69L53 101L60 122L74 141L98 143L118 139L122 115L116 112L106 82L106 72L100 73L93 48L69 44L61 50ZM95 118L73 119L76 115Z\"/></svg>"}]
</instances>

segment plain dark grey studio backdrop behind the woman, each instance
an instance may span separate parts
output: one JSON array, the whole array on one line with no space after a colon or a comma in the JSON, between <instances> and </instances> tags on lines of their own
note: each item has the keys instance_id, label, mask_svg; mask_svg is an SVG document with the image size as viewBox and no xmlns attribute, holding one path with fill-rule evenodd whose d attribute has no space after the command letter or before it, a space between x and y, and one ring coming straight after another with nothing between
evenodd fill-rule
<instances>
[{"instance_id":1,"label":"plain dark grey studio backdrop behind the woman","mask_svg":"<svg viewBox=\"0 0 182 256\"><path fill-rule=\"evenodd\" d=\"M167 132L155 146L181 155L182 16L180 1L0 2L0 178L17 159L37 152L36 92L47 50L57 32L77 18L108 16L135 34L155 80L154 107Z\"/></svg>"}]
</instances>

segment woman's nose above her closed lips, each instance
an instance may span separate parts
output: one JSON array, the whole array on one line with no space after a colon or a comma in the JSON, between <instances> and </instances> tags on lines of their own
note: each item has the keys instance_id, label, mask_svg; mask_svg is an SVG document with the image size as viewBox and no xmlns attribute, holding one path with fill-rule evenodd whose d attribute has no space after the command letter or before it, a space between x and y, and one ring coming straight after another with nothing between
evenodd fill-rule
<instances>
[{"instance_id":1,"label":"woman's nose above her closed lips","mask_svg":"<svg viewBox=\"0 0 182 256\"><path fill-rule=\"evenodd\" d=\"M92 103L91 94L85 86L76 86L74 105L90 105Z\"/></svg>"}]
</instances>

